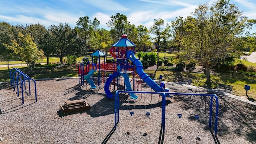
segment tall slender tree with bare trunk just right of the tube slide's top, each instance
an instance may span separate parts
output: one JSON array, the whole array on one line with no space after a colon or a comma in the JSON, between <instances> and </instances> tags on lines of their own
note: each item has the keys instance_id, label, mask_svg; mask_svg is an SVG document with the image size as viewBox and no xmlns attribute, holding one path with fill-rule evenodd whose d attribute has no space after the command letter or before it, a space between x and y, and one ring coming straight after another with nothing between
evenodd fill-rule
<instances>
[{"instance_id":1,"label":"tall slender tree with bare trunk just right of the tube slide's top","mask_svg":"<svg viewBox=\"0 0 256 144\"><path fill-rule=\"evenodd\" d=\"M150 28L150 33L156 35L156 49L157 49L157 61L159 60L159 43L160 43L160 36L162 35L162 26L164 25L164 20L161 18L159 19L154 19L154 24Z\"/></svg>"}]
</instances>

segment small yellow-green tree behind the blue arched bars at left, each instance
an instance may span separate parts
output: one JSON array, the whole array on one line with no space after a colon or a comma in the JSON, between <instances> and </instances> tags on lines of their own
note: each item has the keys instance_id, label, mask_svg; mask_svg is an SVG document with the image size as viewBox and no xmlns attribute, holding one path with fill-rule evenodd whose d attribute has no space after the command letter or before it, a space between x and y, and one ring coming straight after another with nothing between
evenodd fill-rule
<instances>
[{"instance_id":1,"label":"small yellow-green tree behind the blue arched bars at left","mask_svg":"<svg viewBox=\"0 0 256 144\"><path fill-rule=\"evenodd\" d=\"M19 60L26 62L31 73L32 65L36 60L42 60L44 58L44 52L38 50L36 43L33 42L33 38L29 34L24 36L22 33L19 33L18 40L12 39L11 41L11 45L4 45L8 49L13 50Z\"/></svg>"}]
</instances>

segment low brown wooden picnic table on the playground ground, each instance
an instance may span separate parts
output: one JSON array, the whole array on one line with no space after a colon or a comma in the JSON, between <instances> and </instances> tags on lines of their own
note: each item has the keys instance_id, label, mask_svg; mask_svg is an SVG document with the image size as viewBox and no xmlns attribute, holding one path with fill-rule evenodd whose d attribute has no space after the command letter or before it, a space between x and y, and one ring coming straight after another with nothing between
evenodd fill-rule
<instances>
[{"instance_id":1,"label":"low brown wooden picnic table on the playground ground","mask_svg":"<svg viewBox=\"0 0 256 144\"><path fill-rule=\"evenodd\" d=\"M65 104L60 106L60 109L64 114L70 112L78 112L82 110L90 110L90 108L91 106L87 102L85 102L84 99L65 101Z\"/></svg>"}]
</instances>

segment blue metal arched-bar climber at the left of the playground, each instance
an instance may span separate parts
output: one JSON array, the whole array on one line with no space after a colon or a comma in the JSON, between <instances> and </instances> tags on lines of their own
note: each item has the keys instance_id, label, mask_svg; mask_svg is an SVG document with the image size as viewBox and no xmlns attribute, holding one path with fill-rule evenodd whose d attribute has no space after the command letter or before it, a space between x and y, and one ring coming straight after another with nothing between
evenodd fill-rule
<instances>
[{"instance_id":1,"label":"blue metal arched-bar climber at the left of the playground","mask_svg":"<svg viewBox=\"0 0 256 144\"><path fill-rule=\"evenodd\" d=\"M12 71L15 70L13 73ZM25 74L18 68L12 68L10 70L10 82L11 86L13 86L13 89L15 91L15 80L16 80L16 86L17 86L17 94L19 96L19 84L21 88L21 93L22 93L22 104L24 104L24 93L27 95L31 95L31 89L30 89L30 81L34 82L34 88L35 88L35 99L37 102L37 95L36 95L36 81L33 78L30 78L28 74ZM27 92L27 87L26 87L26 82L28 82L28 89L29 89L29 94ZM23 88L24 86L24 88Z\"/></svg>"}]
</instances>

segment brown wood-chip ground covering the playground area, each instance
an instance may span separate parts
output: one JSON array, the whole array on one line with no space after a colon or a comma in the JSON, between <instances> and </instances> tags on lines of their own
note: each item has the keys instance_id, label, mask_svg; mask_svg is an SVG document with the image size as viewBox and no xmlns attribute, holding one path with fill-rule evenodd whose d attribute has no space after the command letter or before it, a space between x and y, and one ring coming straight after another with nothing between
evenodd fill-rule
<instances>
[{"instance_id":1,"label":"brown wood-chip ground covering the playground area","mask_svg":"<svg viewBox=\"0 0 256 144\"><path fill-rule=\"evenodd\" d=\"M80 87L76 79L40 80L37 84L38 102L34 88L31 95L21 96L10 84L0 84L0 144L156 144L161 132L161 96L137 94L131 100L120 94L120 122L114 130L114 100L108 99L104 86L90 89ZM136 87L138 83L136 83ZM112 86L112 90L113 90ZM166 83L170 92L210 93L203 88ZM142 91L151 91L145 83ZM137 89L136 89L137 90ZM230 98L219 92L218 133L209 130L209 97L173 96L166 100L164 144L256 144L256 106ZM66 100L84 98L90 110L62 114L60 105ZM152 98L152 99L151 99ZM184 102L183 102L184 101ZM201 104L202 101L202 104ZM214 114L215 115L215 105ZM130 116L130 111L134 115ZM145 115L150 112L150 116ZM178 118L177 113L182 113ZM195 114L200 114L196 120ZM129 133L128 133L129 132ZM147 134L147 135L146 135ZM182 139L177 139L181 136ZM196 138L199 137L199 140Z\"/></svg>"}]
</instances>

